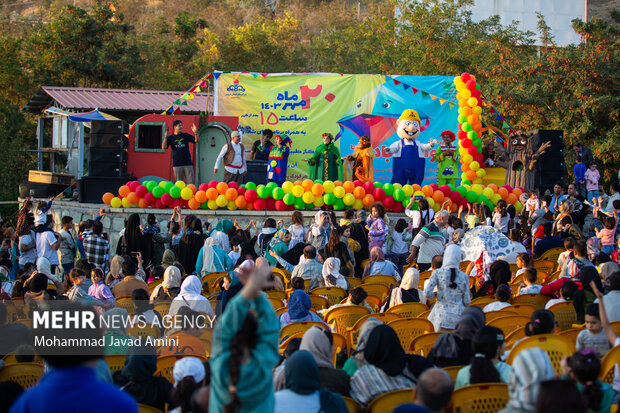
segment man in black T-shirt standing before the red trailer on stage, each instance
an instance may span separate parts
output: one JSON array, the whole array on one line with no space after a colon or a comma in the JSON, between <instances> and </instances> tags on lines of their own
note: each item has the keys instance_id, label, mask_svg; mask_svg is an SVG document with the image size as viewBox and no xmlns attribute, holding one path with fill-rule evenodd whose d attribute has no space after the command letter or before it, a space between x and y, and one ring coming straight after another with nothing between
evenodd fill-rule
<instances>
[{"instance_id":1,"label":"man in black T-shirt standing before the red trailer on stage","mask_svg":"<svg viewBox=\"0 0 620 413\"><path fill-rule=\"evenodd\" d=\"M192 156L189 152L189 143L199 143L198 128L196 124L192 124L192 132L196 137L189 133L183 133L183 122L175 120L172 123L173 134L168 135L161 143L161 148L166 150L172 147L172 170L174 171L174 179L183 181L186 184L194 183L194 164Z\"/></svg>"}]
</instances>

